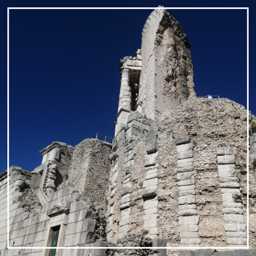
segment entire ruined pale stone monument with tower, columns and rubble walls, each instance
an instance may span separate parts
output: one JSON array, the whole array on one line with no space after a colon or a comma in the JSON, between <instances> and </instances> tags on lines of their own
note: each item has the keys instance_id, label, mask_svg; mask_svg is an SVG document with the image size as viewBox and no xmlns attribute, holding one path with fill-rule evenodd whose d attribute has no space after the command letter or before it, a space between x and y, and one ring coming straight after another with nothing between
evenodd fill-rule
<instances>
[{"instance_id":1,"label":"entire ruined pale stone monument with tower, columns and rubble walls","mask_svg":"<svg viewBox=\"0 0 256 256\"><path fill-rule=\"evenodd\" d=\"M197 98L190 44L164 9L148 17L136 57L120 61L121 88L113 144L53 142L42 164L0 175L3 255L232 256L255 250L93 249L256 247L256 133L250 136L247 202L247 113L226 98ZM249 124L256 123L249 114ZM249 204L249 234L247 234ZM57 230L57 231L56 231ZM51 246L52 247L52 246ZM52 249L51 249L52 250Z\"/></svg>"}]
</instances>

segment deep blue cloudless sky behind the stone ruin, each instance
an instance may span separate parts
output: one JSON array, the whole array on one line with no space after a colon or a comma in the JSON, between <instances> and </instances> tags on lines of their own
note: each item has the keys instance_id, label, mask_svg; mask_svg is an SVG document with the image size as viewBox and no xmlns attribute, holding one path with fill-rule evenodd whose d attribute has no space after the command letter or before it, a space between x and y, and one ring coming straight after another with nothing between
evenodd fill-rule
<instances>
[{"instance_id":1,"label":"deep blue cloudless sky behind the stone ruin","mask_svg":"<svg viewBox=\"0 0 256 256\"><path fill-rule=\"evenodd\" d=\"M7 7L249 7L250 110L256 114L255 1L1 2L0 172L7 168ZM5 3L5 4L4 4ZM135 56L152 10L10 10L10 166L32 171L53 141L114 137L119 59ZM198 96L246 106L246 10L170 10L191 43Z\"/></svg>"}]
</instances>

